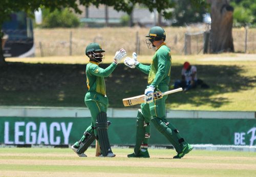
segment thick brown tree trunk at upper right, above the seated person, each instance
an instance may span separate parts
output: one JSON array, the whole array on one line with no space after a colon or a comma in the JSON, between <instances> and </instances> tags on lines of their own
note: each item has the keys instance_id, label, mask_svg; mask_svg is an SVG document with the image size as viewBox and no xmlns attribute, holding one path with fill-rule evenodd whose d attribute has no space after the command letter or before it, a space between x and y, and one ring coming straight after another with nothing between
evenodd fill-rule
<instances>
[{"instance_id":1,"label":"thick brown tree trunk at upper right, above the seated person","mask_svg":"<svg viewBox=\"0 0 256 177\"><path fill-rule=\"evenodd\" d=\"M208 0L211 4L210 53L234 52L233 7L229 0Z\"/></svg>"}]
</instances>

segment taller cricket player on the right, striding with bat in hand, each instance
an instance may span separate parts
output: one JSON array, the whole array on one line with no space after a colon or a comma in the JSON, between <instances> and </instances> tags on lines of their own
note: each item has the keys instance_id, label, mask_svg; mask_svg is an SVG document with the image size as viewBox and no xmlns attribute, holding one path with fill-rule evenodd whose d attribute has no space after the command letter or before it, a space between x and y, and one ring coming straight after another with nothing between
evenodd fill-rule
<instances>
[{"instance_id":1,"label":"taller cricket player on the right, striding with bat in hand","mask_svg":"<svg viewBox=\"0 0 256 177\"><path fill-rule=\"evenodd\" d=\"M129 158L149 158L147 150L148 139L150 138L150 123L152 122L158 131L163 134L167 140L173 144L177 155L173 158L180 159L193 147L185 142L178 129L165 117L165 100L167 95L162 99L153 99L153 93L156 91L168 91L170 81L170 68L172 57L170 49L166 46L166 34L161 27L152 27L146 36L146 44L149 49L156 48L156 53L152 58L151 65L144 65L138 62L137 54L133 53L133 58L126 57L124 64L130 68L137 68L148 75L148 86L145 89L144 103L138 111L136 125L136 143L134 153L129 154Z\"/></svg>"}]
</instances>

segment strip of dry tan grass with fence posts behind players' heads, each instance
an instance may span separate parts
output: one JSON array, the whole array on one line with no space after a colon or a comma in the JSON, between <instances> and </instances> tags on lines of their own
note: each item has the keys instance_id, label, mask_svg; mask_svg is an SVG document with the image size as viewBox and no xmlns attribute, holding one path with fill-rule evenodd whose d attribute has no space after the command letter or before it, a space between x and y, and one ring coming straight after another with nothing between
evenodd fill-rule
<instances>
[{"instance_id":1,"label":"strip of dry tan grass with fence posts behind players' heads","mask_svg":"<svg viewBox=\"0 0 256 177\"><path fill-rule=\"evenodd\" d=\"M145 43L148 28L77 28L77 29L35 29L36 56L84 55L90 42L98 42L106 54L114 55L120 48L140 55L152 55ZM173 54L186 54L188 37L190 51L187 54L203 53L204 28L165 28L166 43ZM256 29L233 29L236 52L256 53ZM189 34L189 35L188 35Z\"/></svg>"}]
</instances>

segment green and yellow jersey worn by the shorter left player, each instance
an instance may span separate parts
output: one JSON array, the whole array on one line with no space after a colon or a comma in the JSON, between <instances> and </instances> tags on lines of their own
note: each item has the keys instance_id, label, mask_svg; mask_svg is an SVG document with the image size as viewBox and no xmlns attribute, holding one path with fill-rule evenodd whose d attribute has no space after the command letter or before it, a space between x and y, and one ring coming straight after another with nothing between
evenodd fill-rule
<instances>
[{"instance_id":1,"label":"green and yellow jersey worn by the shorter left player","mask_svg":"<svg viewBox=\"0 0 256 177\"><path fill-rule=\"evenodd\" d=\"M115 70L116 66L115 63L112 63L108 68L102 69L99 67L99 63L90 61L86 65L88 92L97 92L106 95L104 77L108 77Z\"/></svg>"}]
</instances>

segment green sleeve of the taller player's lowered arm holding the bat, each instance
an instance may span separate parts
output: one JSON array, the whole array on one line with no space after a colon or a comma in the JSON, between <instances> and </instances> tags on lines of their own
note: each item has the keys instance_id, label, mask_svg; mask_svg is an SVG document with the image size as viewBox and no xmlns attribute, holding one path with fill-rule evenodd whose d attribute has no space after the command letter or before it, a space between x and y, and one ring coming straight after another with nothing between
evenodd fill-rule
<instances>
[{"instance_id":1,"label":"green sleeve of the taller player's lowered arm holding the bat","mask_svg":"<svg viewBox=\"0 0 256 177\"><path fill-rule=\"evenodd\" d=\"M156 87L164 78L164 76L169 71L170 66L167 65L167 60L169 59L169 52L163 51L158 54L158 70L156 73L156 77L154 81L151 83L154 87Z\"/></svg>"}]
</instances>

